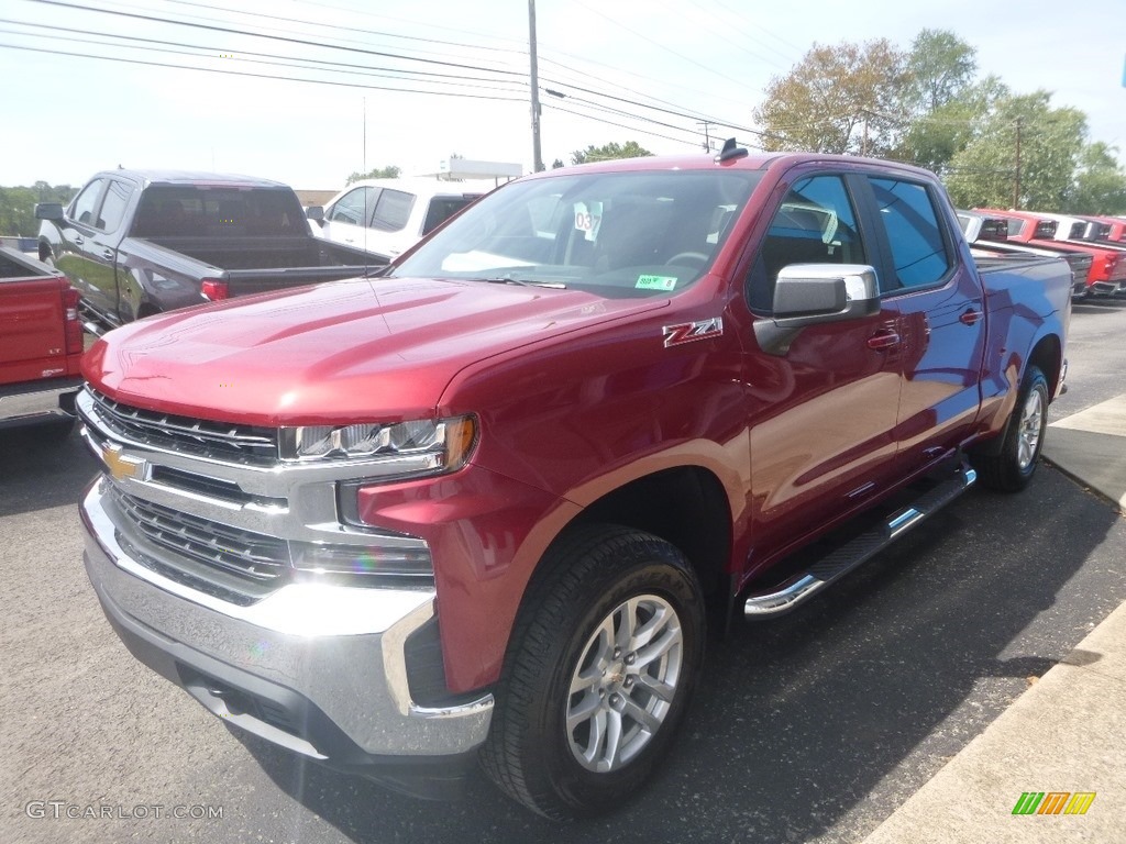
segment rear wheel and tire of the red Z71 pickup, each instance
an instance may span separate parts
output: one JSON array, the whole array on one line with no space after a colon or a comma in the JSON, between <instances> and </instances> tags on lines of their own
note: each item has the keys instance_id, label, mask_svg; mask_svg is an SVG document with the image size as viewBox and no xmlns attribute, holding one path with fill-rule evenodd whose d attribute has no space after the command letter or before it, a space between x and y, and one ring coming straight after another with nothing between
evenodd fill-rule
<instances>
[{"instance_id":1,"label":"rear wheel and tire of the red Z71 pickup","mask_svg":"<svg viewBox=\"0 0 1126 844\"><path fill-rule=\"evenodd\" d=\"M976 454L972 463L982 484L1000 492L1020 492L1036 474L1048 423L1048 383L1030 366L1020 383L1017 404L995 455Z\"/></svg>"}]
</instances>

